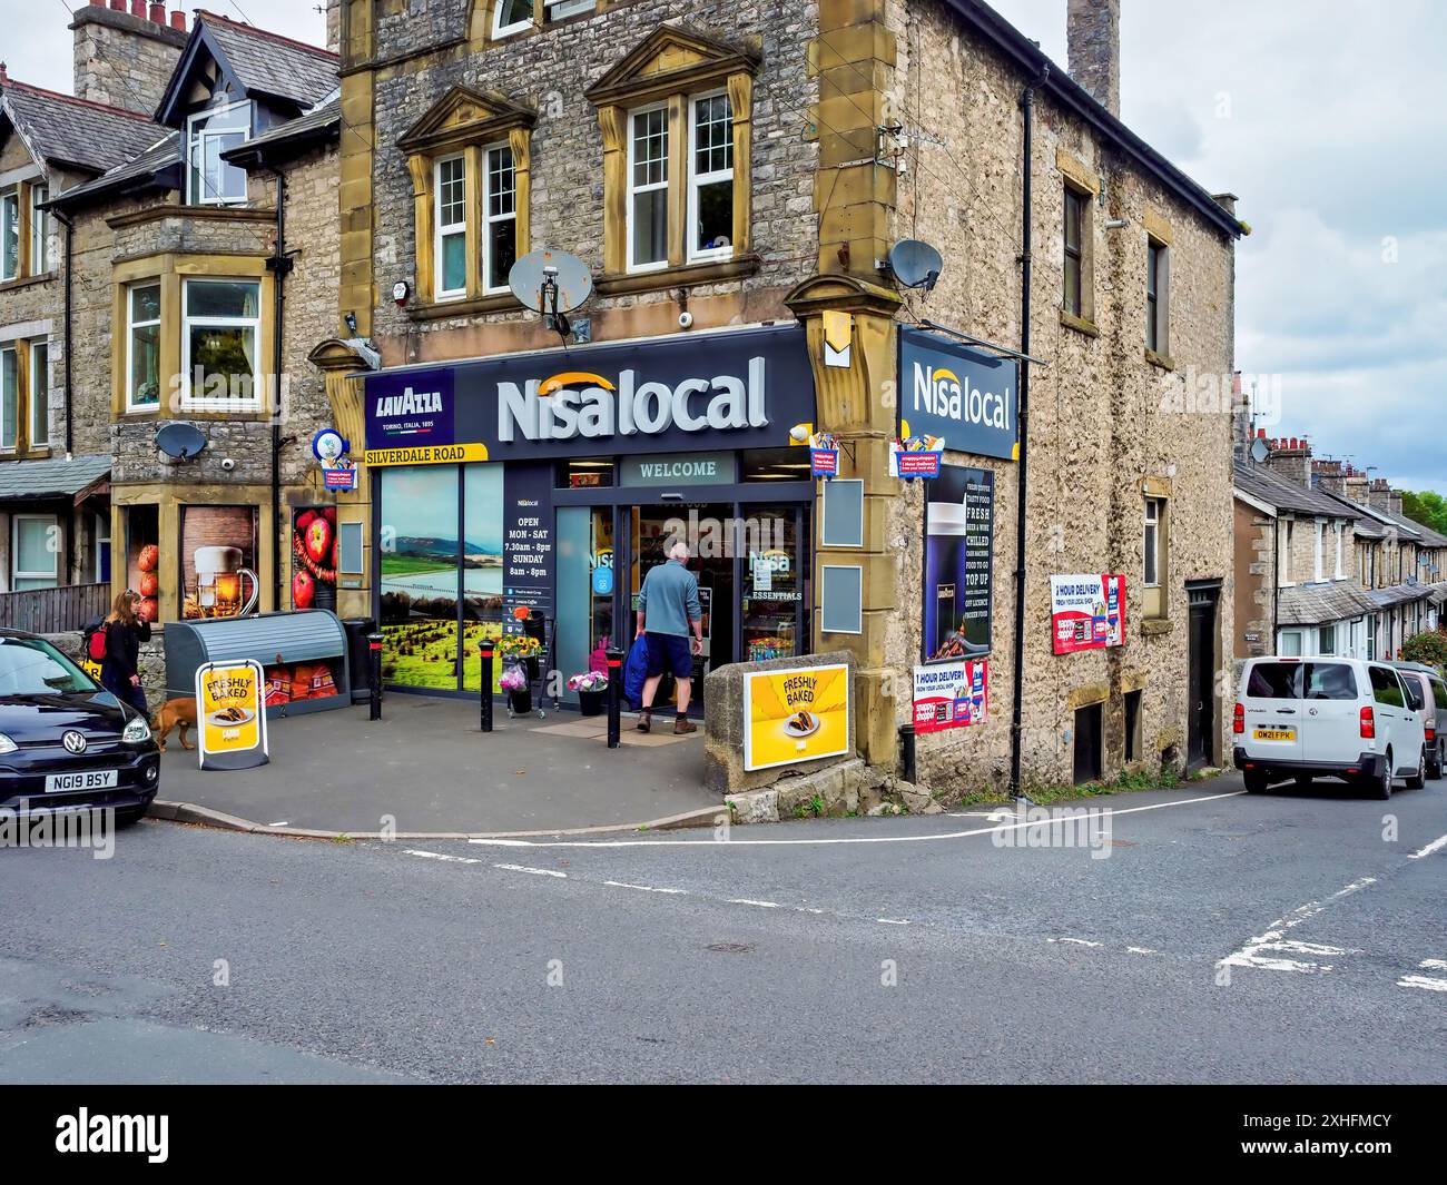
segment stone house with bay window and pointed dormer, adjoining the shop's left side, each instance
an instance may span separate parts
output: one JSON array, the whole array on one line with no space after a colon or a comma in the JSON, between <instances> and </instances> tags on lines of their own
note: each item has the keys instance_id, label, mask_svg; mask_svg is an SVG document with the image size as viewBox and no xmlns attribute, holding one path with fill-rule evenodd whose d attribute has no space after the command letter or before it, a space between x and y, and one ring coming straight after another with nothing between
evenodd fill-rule
<instances>
[{"instance_id":1,"label":"stone house with bay window and pointed dormer, adjoining the shop's left side","mask_svg":"<svg viewBox=\"0 0 1447 1185\"><path fill-rule=\"evenodd\" d=\"M294 580L294 522L331 501L307 354L339 284L337 59L207 12L190 32L139 17L78 13L77 85L149 106L148 139L54 203L84 260L74 398L113 457L114 585L161 622L287 608L294 586L330 605L334 580ZM158 29L179 39L168 71Z\"/></svg>"}]
</instances>

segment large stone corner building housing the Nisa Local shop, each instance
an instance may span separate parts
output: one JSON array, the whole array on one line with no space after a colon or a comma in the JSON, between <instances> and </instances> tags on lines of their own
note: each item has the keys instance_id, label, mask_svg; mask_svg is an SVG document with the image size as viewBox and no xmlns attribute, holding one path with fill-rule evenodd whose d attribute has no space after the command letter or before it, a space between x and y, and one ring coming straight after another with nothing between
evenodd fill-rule
<instances>
[{"instance_id":1,"label":"large stone corner building housing the Nisa Local shop","mask_svg":"<svg viewBox=\"0 0 1447 1185\"><path fill-rule=\"evenodd\" d=\"M1120 123L1116 0L1069 4L1069 72L975 0L339 16L356 328L314 360L368 443L343 512L376 524L394 681L476 687L480 631L528 606L586 666L687 524L726 544L708 666L848 651L851 748L893 768L915 723L939 797L1223 761L1243 226ZM904 239L936 275L891 272ZM508 286L543 247L590 276L564 336ZM901 436L943 438L942 479L891 476ZM1065 638L1051 577L1079 574L1101 629ZM935 731L915 671L954 658L988 663L987 708Z\"/></svg>"}]
</instances>

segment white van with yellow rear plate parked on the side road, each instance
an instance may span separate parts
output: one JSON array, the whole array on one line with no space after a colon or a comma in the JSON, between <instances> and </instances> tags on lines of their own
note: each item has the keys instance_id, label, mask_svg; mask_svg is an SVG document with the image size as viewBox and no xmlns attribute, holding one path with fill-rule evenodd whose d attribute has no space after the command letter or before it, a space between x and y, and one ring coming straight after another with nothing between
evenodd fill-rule
<instances>
[{"instance_id":1,"label":"white van with yellow rear plate parked on the side road","mask_svg":"<svg viewBox=\"0 0 1447 1185\"><path fill-rule=\"evenodd\" d=\"M1231 721L1234 764L1253 794L1273 781L1338 777L1388 799L1392 780L1421 790L1421 712L1386 663L1360 658L1247 658Z\"/></svg>"}]
</instances>

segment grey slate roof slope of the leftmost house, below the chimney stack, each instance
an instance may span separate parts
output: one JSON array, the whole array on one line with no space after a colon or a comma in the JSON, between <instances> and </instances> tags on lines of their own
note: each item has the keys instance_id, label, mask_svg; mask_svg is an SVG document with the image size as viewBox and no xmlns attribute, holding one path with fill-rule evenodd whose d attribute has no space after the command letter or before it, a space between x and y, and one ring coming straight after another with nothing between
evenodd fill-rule
<instances>
[{"instance_id":1,"label":"grey slate roof slope of the leftmost house, below the chimney stack","mask_svg":"<svg viewBox=\"0 0 1447 1185\"><path fill-rule=\"evenodd\" d=\"M82 172L100 174L124 163L166 133L146 116L26 82L7 84L0 109L43 161Z\"/></svg>"}]
</instances>

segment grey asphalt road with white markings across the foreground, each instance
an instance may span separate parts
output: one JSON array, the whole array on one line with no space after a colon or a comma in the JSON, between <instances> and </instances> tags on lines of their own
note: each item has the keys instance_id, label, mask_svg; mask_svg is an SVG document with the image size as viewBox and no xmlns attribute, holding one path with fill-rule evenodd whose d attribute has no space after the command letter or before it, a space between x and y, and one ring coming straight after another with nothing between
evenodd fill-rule
<instances>
[{"instance_id":1,"label":"grey asphalt road with white markings across the foreground","mask_svg":"<svg viewBox=\"0 0 1447 1185\"><path fill-rule=\"evenodd\" d=\"M1447 1081L1447 783L1237 789L1094 800L1085 846L0 851L0 1081Z\"/></svg>"}]
</instances>

